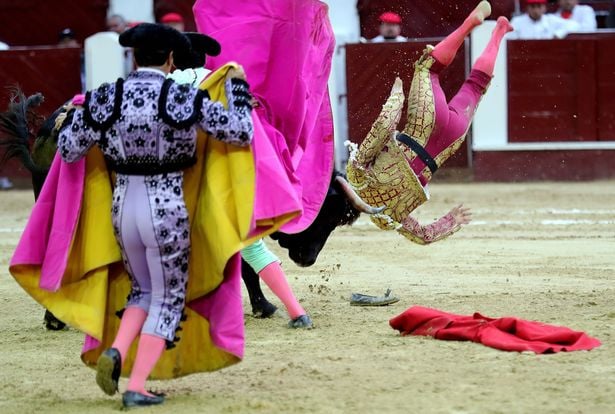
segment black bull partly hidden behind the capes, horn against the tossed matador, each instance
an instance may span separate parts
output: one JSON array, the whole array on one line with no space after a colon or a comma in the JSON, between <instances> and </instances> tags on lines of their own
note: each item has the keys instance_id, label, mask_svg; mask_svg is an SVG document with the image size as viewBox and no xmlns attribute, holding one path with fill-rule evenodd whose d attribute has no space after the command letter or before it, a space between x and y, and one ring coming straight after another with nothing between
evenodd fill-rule
<instances>
[{"instance_id":1,"label":"black bull partly hidden behind the capes, horn against the tossed matador","mask_svg":"<svg viewBox=\"0 0 615 414\"><path fill-rule=\"evenodd\" d=\"M8 158L18 158L32 173L35 199L40 194L55 153L58 135L58 131L54 128L55 119L63 112L63 108L54 112L34 134L36 121L38 120L40 124L40 118L36 116L33 108L38 106L42 99L40 94L26 98L21 91L15 90L8 110L0 114L0 148L5 149L5 156L0 160L0 166ZM36 138L36 141L34 148L30 150L32 138ZM278 232L271 237L277 240L281 247L288 249L290 258L297 265L311 266L316 262L318 254L333 230L337 226L354 223L361 211L375 212L358 199L342 174L334 171L329 191L314 222L301 233ZM242 278L250 296L253 313L256 316L267 317L275 312L275 306L267 301L261 290L260 278L243 260ZM45 315L45 322L48 329L62 329L64 326L49 312Z\"/></svg>"}]
</instances>

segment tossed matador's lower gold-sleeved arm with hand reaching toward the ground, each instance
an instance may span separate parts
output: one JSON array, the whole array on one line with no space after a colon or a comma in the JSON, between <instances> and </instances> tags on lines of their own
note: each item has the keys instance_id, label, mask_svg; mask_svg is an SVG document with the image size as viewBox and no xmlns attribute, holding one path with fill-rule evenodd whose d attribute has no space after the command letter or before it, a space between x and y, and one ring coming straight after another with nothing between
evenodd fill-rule
<instances>
[{"instance_id":1,"label":"tossed matador's lower gold-sleeved arm with hand reaching toward the ground","mask_svg":"<svg viewBox=\"0 0 615 414\"><path fill-rule=\"evenodd\" d=\"M426 226L421 225L418 220L408 215L397 231L415 243L429 244L450 236L459 230L462 225L468 224L470 220L470 210L460 205Z\"/></svg>"}]
</instances>

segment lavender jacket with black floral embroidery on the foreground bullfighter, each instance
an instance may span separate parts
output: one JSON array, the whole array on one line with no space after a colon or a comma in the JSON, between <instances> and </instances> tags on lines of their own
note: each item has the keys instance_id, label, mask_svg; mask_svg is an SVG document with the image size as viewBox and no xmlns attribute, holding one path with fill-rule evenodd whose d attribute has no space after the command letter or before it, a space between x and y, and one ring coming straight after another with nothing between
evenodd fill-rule
<instances>
[{"instance_id":1,"label":"lavender jacket with black floral embroidery on the foreground bullfighter","mask_svg":"<svg viewBox=\"0 0 615 414\"><path fill-rule=\"evenodd\" d=\"M64 161L74 162L98 144L108 167L120 174L174 172L195 162L197 128L229 144L249 145L253 135L248 84L226 81L228 109L207 91L180 85L162 72L135 71L86 94L58 137Z\"/></svg>"}]
</instances>

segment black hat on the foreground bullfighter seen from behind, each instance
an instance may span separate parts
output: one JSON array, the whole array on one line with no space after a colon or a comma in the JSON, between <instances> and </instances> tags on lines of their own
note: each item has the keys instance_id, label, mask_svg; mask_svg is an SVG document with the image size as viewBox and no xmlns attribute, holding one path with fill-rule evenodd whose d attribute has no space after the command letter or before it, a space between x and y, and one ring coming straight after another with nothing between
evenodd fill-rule
<instances>
[{"instance_id":1,"label":"black hat on the foreground bullfighter seen from behind","mask_svg":"<svg viewBox=\"0 0 615 414\"><path fill-rule=\"evenodd\" d=\"M190 47L188 39L172 27L141 23L120 35L120 45L143 50L175 51Z\"/></svg>"}]
</instances>

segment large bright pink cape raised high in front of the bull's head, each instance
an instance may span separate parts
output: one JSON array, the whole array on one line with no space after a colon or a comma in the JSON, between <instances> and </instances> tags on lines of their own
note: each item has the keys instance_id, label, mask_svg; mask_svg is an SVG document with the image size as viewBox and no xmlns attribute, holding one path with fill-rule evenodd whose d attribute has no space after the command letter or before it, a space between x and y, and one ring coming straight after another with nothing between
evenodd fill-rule
<instances>
[{"instance_id":1,"label":"large bright pink cape raised high in front of the bull's head","mask_svg":"<svg viewBox=\"0 0 615 414\"><path fill-rule=\"evenodd\" d=\"M254 218L270 217L271 208L296 211L299 202L303 214L282 231L305 230L324 202L334 162L327 90L334 37L327 6L316 0L197 0L193 12L198 30L222 46L207 67L243 65L261 105L256 113L268 142L255 135Z\"/></svg>"}]
</instances>

